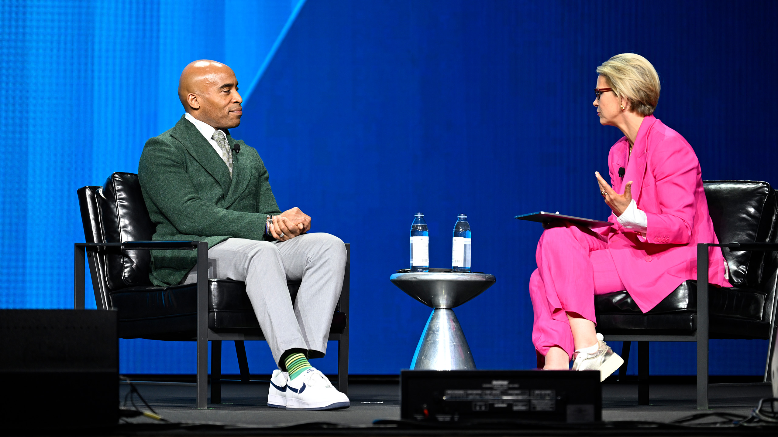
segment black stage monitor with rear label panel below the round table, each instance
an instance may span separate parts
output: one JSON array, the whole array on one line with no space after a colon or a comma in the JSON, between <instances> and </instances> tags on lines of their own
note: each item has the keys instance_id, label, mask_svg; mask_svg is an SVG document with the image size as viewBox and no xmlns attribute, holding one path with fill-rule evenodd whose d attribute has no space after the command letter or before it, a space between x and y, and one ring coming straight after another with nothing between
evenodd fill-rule
<instances>
[{"instance_id":1,"label":"black stage monitor with rear label panel below the round table","mask_svg":"<svg viewBox=\"0 0 778 437\"><path fill-rule=\"evenodd\" d=\"M400 416L411 421L602 419L600 372L403 370Z\"/></svg>"}]
</instances>

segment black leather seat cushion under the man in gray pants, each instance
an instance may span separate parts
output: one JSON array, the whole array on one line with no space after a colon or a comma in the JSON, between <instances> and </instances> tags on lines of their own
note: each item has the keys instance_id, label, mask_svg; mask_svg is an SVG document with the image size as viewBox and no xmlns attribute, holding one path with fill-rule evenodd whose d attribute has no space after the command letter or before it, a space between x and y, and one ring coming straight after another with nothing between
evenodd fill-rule
<instances>
[{"instance_id":1,"label":"black leather seat cushion under the man in gray pants","mask_svg":"<svg viewBox=\"0 0 778 437\"><path fill-rule=\"evenodd\" d=\"M292 300L300 282L289 282ZM261 335L254 307L240 281L209 279L208 325L212 330L230 330ZM138 286L111 292L111 306L119 311L119 335L122 338L157 338L191 340L197 322L197 285L170 287ZM344 313L333 316L330 332L345 330Z\"/></svg>"}]
</instances>

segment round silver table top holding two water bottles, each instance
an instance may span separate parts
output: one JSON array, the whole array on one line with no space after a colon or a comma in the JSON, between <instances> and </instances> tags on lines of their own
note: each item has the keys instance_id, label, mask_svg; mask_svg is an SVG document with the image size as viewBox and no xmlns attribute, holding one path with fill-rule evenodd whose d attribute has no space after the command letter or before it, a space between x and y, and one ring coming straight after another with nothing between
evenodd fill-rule
<instances>
[{"instance_id":1,"label":"round silver table top holding two water bottles","mask_svg":"<svg viewBox=\"0 0 778 437\"><path fill-rule=\"evenodd\" d=\"M389 277L392 284L426 306L450 309L485 292L497 281L493 274L465 273L450 269L398 271Z\"/></svg>"}]
</instances>

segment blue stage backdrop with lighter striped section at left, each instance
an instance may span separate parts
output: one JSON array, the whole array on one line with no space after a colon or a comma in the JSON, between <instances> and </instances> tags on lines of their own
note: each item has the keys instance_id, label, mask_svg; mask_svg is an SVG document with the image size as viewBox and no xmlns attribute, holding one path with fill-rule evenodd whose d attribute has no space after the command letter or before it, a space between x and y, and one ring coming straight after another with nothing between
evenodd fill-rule
<instances>
[{"instance_id":1,"label":"blue stage backdrop with lighter striped section at left","mask_svg":"<svg viewBox=\"0 0 778 437\"><path fill-rule=\"evenodd\" d=\"M407 367L429 315L388 281L407 267L415 212L433 267L447 267L465 212L473 267L497 277L456 309L477 365L534 366L527 282L541 229L513 215L608 215L593 173L621 133L591 102L594 68L613 54L654 63L656 116L689 140L705 179L776 182L773 2L196 3L0 1L0 120L12 127L0 135L12 273L0 306L71 305L75 189L137 170L145 139L180 117L177 78L197 58L237 73L233 136L258 149L281 208L352 243L354 373ZM713 374L763 370L766 341L711 347ZM734 362L733 349L750 352ZM194 372L194 353L122 341L121 372ZM651 370L693 374L694 358L693 344L654 343ZM272 369L265 344L250 345L250 364ZM224 365L237 372L229 352Z\"/></svg>"}]
</instances>

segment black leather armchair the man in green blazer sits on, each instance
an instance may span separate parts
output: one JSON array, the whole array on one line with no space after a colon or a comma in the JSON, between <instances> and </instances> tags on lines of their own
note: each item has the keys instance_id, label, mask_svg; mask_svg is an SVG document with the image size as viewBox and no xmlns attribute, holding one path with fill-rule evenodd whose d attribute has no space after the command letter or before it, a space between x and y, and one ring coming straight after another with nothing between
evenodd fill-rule
<instances>
[{"instance_id":1,"label":"black leather armchair the man in green blazer sits on","mask_svg":"<svg viewBox=\"0 0 778 437\"><path fill-rule=\"evenodd\" d=\"M249 378L244 341L265 340L240 281L207 279L208 243L149 241L154 225L138 176L114 173L103 187L78 190L86 243L75 243L75 308L84 307L84 258L89 260L95 301L118 309L119 337L197 341L197 407L208 407L208 341L211 341L211 403L221 403L222 341L235 341L241 379ZM349 388L349 260L330 328L338 341L338 390ZM149 281L150 249L198 251L198 282L156 287ZM289 281L294 301L300 282Z\"/></svg>"}]
</instances>

